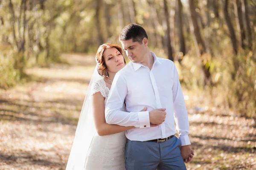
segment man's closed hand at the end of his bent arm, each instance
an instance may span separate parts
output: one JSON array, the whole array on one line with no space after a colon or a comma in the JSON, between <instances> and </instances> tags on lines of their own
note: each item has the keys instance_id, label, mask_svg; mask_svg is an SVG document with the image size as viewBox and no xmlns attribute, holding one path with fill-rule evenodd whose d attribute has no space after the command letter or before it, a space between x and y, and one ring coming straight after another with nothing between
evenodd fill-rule
<instances>
[{"instance_id":1,"label":"man's closed hand at the end of his bent arm","mask_svg":"<svg viewBox=\"0 0 256 170\"><path fill-rule=\"evenodd\" d=\"M149 112L149 121L150 124L160 125L164 122L166 118L166 109L155 109Z\"/></svg>"}]
</instances>

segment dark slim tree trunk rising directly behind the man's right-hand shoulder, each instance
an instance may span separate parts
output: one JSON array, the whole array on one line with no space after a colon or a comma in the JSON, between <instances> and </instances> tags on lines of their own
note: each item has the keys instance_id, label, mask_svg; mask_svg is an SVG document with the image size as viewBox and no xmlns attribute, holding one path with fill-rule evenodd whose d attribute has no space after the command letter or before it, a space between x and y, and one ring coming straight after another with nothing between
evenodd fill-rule
<instances>
[{"instance_id":1,"label":"dark slim tree trunk rising directly behind the man's right-hand shoulder","mask_svg":"<svg viewBox=\"0 0 256 170\"><path fill-rule=\"evenodd\" d=\"M165 33L166 33L166 45L167 45L167 54L168 58L173 61L172 56L172 46L171 46L171 37L170 37L170 22L169 22L169 11L168 11L168 5L166 0L163 0L164 5L164 14L165 14Z\"/></svg>"}]
</instances>

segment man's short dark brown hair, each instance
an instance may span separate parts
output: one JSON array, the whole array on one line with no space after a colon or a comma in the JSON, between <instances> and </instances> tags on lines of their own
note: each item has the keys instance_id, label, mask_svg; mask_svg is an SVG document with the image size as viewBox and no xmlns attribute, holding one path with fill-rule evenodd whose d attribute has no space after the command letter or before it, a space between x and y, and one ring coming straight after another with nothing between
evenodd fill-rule
<instances>
[{"instance_id":1,"label":"man's short dark brown hair","mask_svg":"<svg viewBox=\"0 0 256 170\"><path fill-rule=\"evenodd\" d=\"M142 44L143 38L148 39L145 29L138 24L129 24L125 26L119 34L119 41L132 39L133 42Z\"/></svg>"}]
</instances>

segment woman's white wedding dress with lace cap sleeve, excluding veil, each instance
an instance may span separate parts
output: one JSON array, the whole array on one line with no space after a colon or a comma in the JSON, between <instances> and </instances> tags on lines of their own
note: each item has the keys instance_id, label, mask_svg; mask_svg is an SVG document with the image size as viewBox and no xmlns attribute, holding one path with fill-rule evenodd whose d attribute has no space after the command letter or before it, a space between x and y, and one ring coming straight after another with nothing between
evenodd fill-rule
<instances>
[{"instance_id":1,"label":"woman's white wedding dress with lace cap sleeve, excluding veil","mask_svg":"<svg viewBox=\"0 0 256 170\"><path fill-rule=\"evenodd\" d=\"M92 94L96 92L105 97L106 106L109 88L104 79L94 83ZM125 143L125 132L106 136L95 133L87 153L85 170L125 170Z\"/></svg>"}]
</instances>

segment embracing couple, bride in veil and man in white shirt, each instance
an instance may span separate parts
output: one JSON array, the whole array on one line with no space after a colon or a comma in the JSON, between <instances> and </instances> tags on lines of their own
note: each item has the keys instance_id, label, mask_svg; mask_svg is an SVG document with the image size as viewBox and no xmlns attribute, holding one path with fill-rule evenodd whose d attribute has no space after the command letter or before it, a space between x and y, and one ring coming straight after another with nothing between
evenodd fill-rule
<instances>
[{"instance_id":1,"label":"embracing couple, bride in veil and man in white shirt","mask_svg":"<svg viewBox=\"0 0 256 170\"><path fill-rule=\"evenodd\" d=\"M132 62L118 45L99 47L66 170L186 170L194 152L174 63L149 50L140 25L119 41Z\"/></svg>"}]
</instances>

